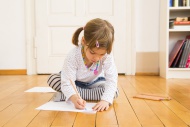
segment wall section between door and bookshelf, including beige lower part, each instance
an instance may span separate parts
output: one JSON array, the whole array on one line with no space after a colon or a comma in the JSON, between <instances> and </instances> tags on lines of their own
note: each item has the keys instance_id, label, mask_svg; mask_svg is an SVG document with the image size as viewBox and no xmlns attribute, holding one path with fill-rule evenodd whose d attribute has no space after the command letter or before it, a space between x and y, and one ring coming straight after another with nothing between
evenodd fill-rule
<instances>
[{"instance_id":1,"label":"wall section between door and bookshelf, including beige lower part","mask_svg":"<svg viewBox=\"0 0 190 127\"><path fill-rule=\"evenodd\" d=\"M134 0L137 75L159 75L159 3L159 0Z\"/></svg>"}]
</instances>

